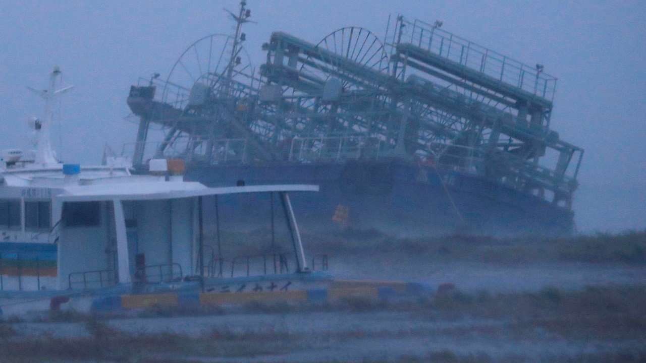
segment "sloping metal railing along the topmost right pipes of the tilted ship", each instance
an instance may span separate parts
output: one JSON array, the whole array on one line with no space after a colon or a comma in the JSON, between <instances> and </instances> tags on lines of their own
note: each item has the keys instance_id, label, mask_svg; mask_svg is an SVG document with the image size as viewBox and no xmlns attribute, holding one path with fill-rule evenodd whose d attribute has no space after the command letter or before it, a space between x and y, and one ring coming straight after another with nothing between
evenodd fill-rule
<instances>
[{"instance_id":1,"label":"sloping metal railing along the topmost right pipes of the tilted ship","mask_svg":"<svg viewBox=\"0 0 646 363\"><path fill-rule=\"evenodd\" d=\"M525 65L423 21L404 23L408 26L404 28L407 34L406 37L402 37L402 41L410 41L412 45L503 83L550 101L554 100L557 78L544 73L542 66Z\"/></svg>"}]
</instances>

